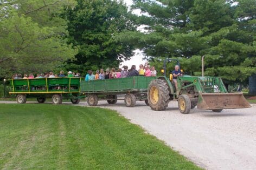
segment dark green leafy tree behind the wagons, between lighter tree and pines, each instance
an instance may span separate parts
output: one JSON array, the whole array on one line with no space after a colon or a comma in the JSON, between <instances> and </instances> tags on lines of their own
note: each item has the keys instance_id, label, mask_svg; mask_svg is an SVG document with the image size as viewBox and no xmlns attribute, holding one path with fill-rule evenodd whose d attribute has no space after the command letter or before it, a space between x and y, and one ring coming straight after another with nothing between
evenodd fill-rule
<instances>
[{"instance_id":1,"label":"dark green leafy tree behind the wagons, between lighter tree and pines","mask_svg":"<svg viewBox=\"0 0 256 170\"><path fill-rule=\"evenodd\" d=\"M116 67L133 55L133 47L114 37L133 30L131 13L122 1L78 0L74 9L63 15L68 19L69 42L78 46L75 60L66 68L86 73L89 69ZM72 65L71 65L72 64Z\"/></svg>"}]
</instances>

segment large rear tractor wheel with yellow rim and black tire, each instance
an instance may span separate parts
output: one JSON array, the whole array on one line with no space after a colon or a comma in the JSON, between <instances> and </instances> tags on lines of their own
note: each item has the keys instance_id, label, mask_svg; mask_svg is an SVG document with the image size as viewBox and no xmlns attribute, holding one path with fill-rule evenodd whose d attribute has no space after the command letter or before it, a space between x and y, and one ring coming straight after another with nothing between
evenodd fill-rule
<instances>
[{"instance_id":1,"label":"large rear tractor wheel with yellow rim and black tire","mask_svg":"<svg viewBox=\"0 0 256 170\"><path fill-rule=\"evenodd\" d=\"M148 87L148 102L152 110L162 111L168 107L169 90L166 81L161 79L152 80Z\"/></svg>"}]
</instances>

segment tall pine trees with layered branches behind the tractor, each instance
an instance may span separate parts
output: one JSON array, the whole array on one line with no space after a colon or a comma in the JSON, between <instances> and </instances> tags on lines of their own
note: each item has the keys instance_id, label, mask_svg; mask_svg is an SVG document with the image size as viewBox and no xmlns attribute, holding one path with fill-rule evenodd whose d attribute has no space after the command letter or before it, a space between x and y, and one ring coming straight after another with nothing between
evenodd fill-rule
<instances>
[{"instance_id":1,"label":"tall pine trees with layered branches behind the tractor","mask_svg":"<svg viewBox=\"0 0 256 170\"><path fill-rule=\"evenodd\" d=\"M205 74L226 82L246 82L256 72L255 1L241 0L237 5L223 0L133 2L134 9L149 13L137 18L139 25L148 24L149 32L137 33L133 39L151 65L161 67L155 57L179 58L185 72L199 76L204 55ZM134 43L131 35L122 37Z\"/></svg>"}]
</instances>

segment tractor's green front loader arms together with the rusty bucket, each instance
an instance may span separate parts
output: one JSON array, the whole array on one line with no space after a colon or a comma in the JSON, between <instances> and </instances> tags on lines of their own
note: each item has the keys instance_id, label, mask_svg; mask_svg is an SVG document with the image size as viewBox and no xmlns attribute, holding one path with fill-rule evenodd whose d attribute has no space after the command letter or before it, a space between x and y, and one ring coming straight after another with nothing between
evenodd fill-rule
<instances>
[{"instance_id":1,"label":"tractor's green front loader arms together with the rusty bucket","mask_svg":"<svg viewBox=\"0 0 256 170\"><path fill-rule=\"evenodd\" d=\"M197 108L202 110L251 107L242 93L228 93L219 77L179 77L178 91L197 99Z\"/></svg>"}]
</instances>

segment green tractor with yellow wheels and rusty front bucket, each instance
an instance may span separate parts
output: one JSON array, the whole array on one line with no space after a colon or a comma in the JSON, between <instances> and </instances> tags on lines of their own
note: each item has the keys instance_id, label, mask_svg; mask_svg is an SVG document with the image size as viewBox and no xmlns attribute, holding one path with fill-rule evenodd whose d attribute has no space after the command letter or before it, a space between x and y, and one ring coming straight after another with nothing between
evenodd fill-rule
<instances>
[{"instance_id":1,"label":"green tractor with yellow wheels and rusty front bucket","mask_svg":"<svg viewBox=\"0 0 256 170\"><path fill-rule=\"evenodd\" d=\"M148 103L152 110L162 111L168 107L170 100L178 100L178 109L188 114L191 109L221 112L225 108L251 107L242 93L228 93L219 77L177 77L177 89L172 81L172 74L167 77L167 63L176 59L165 59L163 76L150 82L148 86Z\"/></svg>"}]
</instances>

